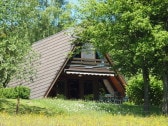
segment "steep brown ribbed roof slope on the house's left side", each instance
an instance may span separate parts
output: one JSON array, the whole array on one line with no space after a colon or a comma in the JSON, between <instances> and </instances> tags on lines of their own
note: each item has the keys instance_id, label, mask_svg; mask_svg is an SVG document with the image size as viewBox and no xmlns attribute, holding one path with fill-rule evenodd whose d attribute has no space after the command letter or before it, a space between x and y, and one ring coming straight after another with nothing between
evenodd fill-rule
<instances>
[{"instance_id":1,"label":"steep brown ribbed roof slope on the house's left side","mask_svg":"<svg viewBox=\"0 0 168 126\"><path fill-rule=\"evenodd\" d=\"M33 82L25 82L31 89L30 98L42 98L49 90L54 79L59 76L59 71L72 50L72 37L62 31L33 44L33 49L40 54L37 65L36 78ZM10 86L17 85L11 82Z\"/></svg>"}]
</instances>

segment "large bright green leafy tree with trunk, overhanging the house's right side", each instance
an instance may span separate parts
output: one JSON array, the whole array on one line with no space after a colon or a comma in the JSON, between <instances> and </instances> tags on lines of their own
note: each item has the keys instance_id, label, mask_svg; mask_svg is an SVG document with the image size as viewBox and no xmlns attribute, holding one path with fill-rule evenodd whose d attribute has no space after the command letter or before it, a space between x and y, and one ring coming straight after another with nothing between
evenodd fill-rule
<instances>
[{"instance_id":1,"label":"large bright green leafy tree with trunk, overhanging the house's right side","mask_svg":"<svg viewBox=\"0 0 168 126\"><path fill-rule=\"evenodd\" d=\"M161 77L166 77L167 85L167 6L167 0L91 0L79 8L80 41L93 43L103 54L111 53L121 72L142 72L145 112L149 111L150 71L164 73Z\"/></svg>"}]
</instances>

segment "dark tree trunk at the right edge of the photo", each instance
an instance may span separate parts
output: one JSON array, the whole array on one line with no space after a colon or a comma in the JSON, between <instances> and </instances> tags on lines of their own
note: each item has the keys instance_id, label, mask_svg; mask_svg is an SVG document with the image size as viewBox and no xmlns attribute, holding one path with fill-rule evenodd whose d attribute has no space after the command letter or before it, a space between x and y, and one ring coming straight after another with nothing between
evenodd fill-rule
<instances>
[{"instance_id":1,"label":"dark tree trunk at the right edge of the photo","mask_svg":"<svg viewBox=\"0 0 168 126\"><path fill-rule=\"evenodd\" d=\"M163 114L168 115L168 63L163 64Z\"/></svg>"}]
</instances>

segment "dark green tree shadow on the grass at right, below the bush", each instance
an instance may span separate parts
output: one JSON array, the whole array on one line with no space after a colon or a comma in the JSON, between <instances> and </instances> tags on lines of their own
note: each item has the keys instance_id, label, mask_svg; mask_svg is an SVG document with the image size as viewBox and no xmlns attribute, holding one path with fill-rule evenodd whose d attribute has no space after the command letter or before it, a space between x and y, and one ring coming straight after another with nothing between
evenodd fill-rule
<instances>
[{"instance_id":1,"label":"dark green tree shadow on the grass at right, below the bush","mask_svg":"<svg viewBox=\"0 0 168 126\"><path fill-rule=\"evenodd\" d=\"M113 115L134 115L134 116L150 116L161 115L161 108L151 106L148 114L144 113L143 106L129 104L99 104L99 108Z\"/></svg>"}]
</instances>

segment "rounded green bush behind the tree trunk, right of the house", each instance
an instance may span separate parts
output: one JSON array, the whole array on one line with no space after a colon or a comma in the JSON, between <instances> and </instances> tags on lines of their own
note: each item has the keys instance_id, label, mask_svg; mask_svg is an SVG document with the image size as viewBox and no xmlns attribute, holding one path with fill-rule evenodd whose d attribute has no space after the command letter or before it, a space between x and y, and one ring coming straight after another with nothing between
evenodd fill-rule
<instances>
[{"instance_id":1,"label":"rounded green bush behind the tree trunk, right of the house","mask_svg":"<svg viewBox=\"0 0 168 126\"><path fill-rule=\"evenodd\" d=\"M144 83L141 74L138 74L128 81L126 94L129 100L137 105L144 103ZM163 83L156 77L150 76L149 98L151 105L161 105L163 97Z\"/></svg>"}]
</instances>

